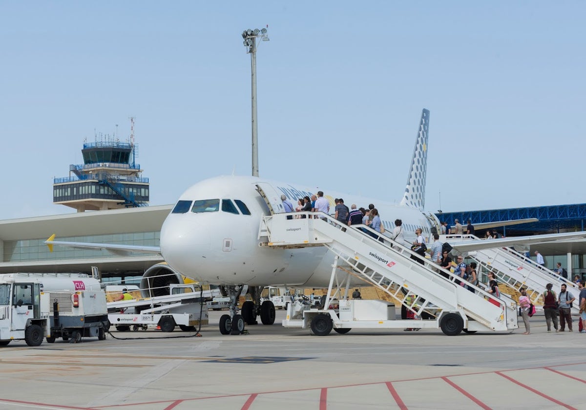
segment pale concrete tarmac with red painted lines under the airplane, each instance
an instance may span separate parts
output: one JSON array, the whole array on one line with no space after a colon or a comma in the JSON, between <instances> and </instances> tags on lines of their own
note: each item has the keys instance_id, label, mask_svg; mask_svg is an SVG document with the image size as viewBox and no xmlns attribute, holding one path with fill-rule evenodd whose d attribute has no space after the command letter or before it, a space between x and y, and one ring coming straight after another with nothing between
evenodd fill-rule
<instances>
[{"instance_id":1,"label":"pale concrete tarmac with red painted lines under the airplane","mask_svg":"<svg viewBox=\"0 0 586 410\"><path fill-rule=\"evenodd\" d=\"M193 332L113 331L106 340L0 347L0 409L586 409L586 334L309 330L247 326L226 312ZM187 336L187 337L186 337ZM169 339L165 339L169 337ZM124 338L118 339L118 338Z\"/></svg>"}]
</instances>

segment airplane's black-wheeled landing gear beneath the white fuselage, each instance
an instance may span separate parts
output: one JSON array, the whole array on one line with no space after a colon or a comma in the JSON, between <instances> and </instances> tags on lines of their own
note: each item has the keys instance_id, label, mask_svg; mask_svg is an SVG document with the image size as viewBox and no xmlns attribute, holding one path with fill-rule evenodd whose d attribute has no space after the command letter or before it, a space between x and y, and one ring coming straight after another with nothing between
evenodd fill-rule
<instances>
[{"instance_id":1,"label":"airplane's black-wheeled landing gear beneath the white fuselage","mask_svg":"<svg viewBox=\"0 0 586 410\"><path fill-rule=\"evenodd\" d=\"M238 313L238 299L243 291L246 293L247 286L222 286L222 294L230 298L230 314L220 317L220 333L241 334L244 333L245 324L257 324L257 316L263 324L275 323L275 305L270 300L260 303L262 286L255 286L250 289L253 300L246 300L242 304L241 312Z\"/></svg>"}]
</instances>

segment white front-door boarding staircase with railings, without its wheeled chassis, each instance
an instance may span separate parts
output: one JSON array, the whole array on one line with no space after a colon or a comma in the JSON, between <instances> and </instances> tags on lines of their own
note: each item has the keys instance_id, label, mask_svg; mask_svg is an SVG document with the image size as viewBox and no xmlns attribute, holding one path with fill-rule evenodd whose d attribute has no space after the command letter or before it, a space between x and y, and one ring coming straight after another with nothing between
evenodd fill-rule
<instances>
[{"instance_id":1,"label":"white front-door boarding staircase with railings, without its wheeled chassis","mask_svg":"<svg viewBox=\"0 0 586 410\"><path fill-rule=\"evenodd\" d=\"M459 285L458 276L368 227L349 227L323 213L295 213L302 214L307 217L288 220L283 213L263 217L258 237L268 241L261 245L325 246L342 259L342 268L391 295L416 315L437 318L445 312L458 312L466 318L466 330L517 329L517 304L506 295L495 298L466 282L475 291L471 292Z\"/></svg>"}]
</instances>

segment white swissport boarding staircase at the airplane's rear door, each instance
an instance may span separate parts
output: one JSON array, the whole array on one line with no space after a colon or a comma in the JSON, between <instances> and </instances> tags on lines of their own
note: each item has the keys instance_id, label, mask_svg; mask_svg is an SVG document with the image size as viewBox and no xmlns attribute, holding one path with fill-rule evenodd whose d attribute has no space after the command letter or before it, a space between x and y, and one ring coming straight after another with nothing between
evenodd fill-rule
<instances>
[{"instance_id":1,"label":"white swissport boarding staircase at the airplane's rear door","mask_svg":"<svg viewBox=\"0 0 586 410\"><path fill-rule=\"evenodd\" d=\"M481 240L475 235L441 235L440 241L448 242L454 246L458 242ZM488 240L490 241L490 240ZM486 248L479 251L466 252L469 258L474 259L479 265L492 271L499 282L520 292L526 289L527 296L534 305L542 305L543 300L539 300L546 291L547 283L554 285L554 290L559 293L559 287L563 284L572 295L577 298L580 290L574 282L568 281L556 272L537 265L532 259L525 257L510 247ZM573 304L572 313L578 314L580 311L578 303Z\"/></svg>"}]
</instances>

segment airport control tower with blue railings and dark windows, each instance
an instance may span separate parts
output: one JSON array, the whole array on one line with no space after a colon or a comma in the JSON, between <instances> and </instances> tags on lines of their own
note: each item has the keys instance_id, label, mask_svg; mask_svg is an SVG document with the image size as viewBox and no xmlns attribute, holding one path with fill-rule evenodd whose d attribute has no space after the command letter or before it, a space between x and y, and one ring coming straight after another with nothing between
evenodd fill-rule
<instances>
[{"instance_id":1,"label":"airport control tower with blue railings and dark windows","mask_svg":"<svg viewBox=\"0 0 586 410\"><path fill-rule=\"evenodd\" d=\"M78 212L148 206L149 181L136 163L134 118L130 142L96 138L84 142L81 153L83 164L70 165L68 177L54 178L53 203Z\"/></svg>"}]
</instances>

